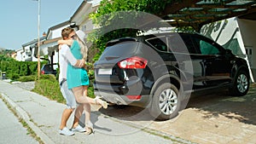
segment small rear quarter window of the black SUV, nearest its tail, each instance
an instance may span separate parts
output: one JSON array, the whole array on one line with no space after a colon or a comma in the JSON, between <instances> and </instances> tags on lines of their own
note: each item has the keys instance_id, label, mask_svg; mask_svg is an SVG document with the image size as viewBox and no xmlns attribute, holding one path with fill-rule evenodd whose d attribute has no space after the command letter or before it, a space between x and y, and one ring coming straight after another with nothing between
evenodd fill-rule
<instances>
[{"instance_id":1,"label":"small rear quarter window of the black SUV, nearest its tail","mask_svg":"<svg viewBox=\"0 0 256 144\"><path fill-rule=\"evenodd\" d=\"M149 44L154 46L155 49L158 49L162 52L167 52L167 45L166 45L166 37L156 37L156 38L150 38L146 40Z\"/></svg>"}]
</instances>

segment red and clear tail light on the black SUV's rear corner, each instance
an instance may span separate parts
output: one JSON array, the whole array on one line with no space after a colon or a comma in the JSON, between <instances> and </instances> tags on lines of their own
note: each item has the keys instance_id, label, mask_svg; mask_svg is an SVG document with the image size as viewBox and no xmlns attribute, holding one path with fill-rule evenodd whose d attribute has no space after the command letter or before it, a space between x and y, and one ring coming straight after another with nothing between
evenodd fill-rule
<instances>
[{"instance_id":1,"label":"red and clear tail light on the black SUV's rear corner","mask_svg":"<svg viewBox=\"0 0 256 144\"><path fill-rule=\"evenodd\" d=\"M131 57L125 60L121 60L118 62L120 68L128 68L128 69L137 69L137 68L145 68L147 66L148 60L143 59L141 57Z\"/></svg>"}]
</instances>

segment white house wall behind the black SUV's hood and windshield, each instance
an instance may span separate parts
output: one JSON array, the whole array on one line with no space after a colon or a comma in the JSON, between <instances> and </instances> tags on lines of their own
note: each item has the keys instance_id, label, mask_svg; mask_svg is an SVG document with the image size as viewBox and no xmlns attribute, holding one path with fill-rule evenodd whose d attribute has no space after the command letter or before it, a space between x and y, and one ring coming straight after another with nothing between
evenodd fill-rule
<instances>
[{"instance_id":1,"label":"white house wall behind the black SUV's hood and windshield","mask_svg":"<svg viewBox=\"0 0 256 144\"><path fill-rule=\"evenodd\" d=\"M250 66L252 82L256 78L256 21L233 17L207 24L201 28L201 34L212 38L232 50L233 54L243 57ZM254 56L253 56L254 55Z\"/></svg>"}]
</instances>

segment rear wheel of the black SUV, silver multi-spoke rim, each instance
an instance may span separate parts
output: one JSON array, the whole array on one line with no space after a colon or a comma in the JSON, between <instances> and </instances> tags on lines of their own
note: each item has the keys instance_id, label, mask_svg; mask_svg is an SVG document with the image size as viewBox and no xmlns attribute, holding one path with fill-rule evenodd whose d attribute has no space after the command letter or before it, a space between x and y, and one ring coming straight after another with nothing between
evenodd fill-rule
<instances>
[{"instance_id":1,"label":"rear wheel of the black SUV, silver multi-spoke rim","mask_svg":"<svg viewBox=\"0 0 256 144\"><path fill-rule=\"evenodd\" d=\"M154 92L149 112L159 120L171 119L177 116L181 105L181 96L173 84L161 84Z\"/></svg>"}]
</instances>

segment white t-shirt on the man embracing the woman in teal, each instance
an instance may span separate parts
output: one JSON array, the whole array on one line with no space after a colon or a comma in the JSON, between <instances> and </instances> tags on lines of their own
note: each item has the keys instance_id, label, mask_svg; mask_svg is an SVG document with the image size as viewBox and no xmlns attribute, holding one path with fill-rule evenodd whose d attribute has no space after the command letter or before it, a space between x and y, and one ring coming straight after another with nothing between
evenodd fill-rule
<instances>
[{"instance_id":1,"label":"white t-shirt on the man embracing the woman in teal","mask_svg":"<svg viewBox=\"0 0 256 144\"><path fill-rule=\"evenodd\" d=\"M73 56L73 54L70 51L70 48L67 46L67 44L62 44L61 49L59 50L59 65L60 65L60 74L59 74L59 82L61 83L61 80L63 78L67 79L67 64L70 63L72 66L74 66L77 62L77 59Z\"/></svg>"}]
</instances>

